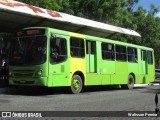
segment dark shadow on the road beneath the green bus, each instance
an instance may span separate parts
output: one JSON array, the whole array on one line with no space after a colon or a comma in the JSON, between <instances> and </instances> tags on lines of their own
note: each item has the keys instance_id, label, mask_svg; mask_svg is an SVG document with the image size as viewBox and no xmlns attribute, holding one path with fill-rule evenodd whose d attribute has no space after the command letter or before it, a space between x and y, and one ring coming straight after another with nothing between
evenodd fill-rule
<instances>
[{"instance_id":1,"label":"dark shadow on the road beneath the green bus","mask_svg":"<svg viewBox=\"0 0 160 120\"><path fill-rule=\"evenodd\" d=\"M145 89L144 87L135 88ZM92 94L94 92L107 92L107 91L125 91L127 89L122 89L119 86L90 86L85 87L82 91L82 94ZM3 87L0 88L0 94L7 95L26 95L26 96L45 96L45 95L58 95L58 94L71 94L69 91L69 87L55 87L55 88L47 88L47 87L19 87L19 86L11 86L11 87Z\"/></svg>"}]
</instances>

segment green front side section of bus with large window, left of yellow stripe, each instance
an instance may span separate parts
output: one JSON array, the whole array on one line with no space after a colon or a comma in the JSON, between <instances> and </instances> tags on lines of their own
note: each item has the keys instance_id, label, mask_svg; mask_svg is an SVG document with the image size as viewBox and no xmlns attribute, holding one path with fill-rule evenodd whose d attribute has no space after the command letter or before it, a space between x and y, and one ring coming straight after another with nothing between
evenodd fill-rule
<instances>
[{"instance_id":1,"label":"green front side section of bus with large window, left of yellow stripe","mask_svg":"<svg viewBox=\"0 0 160 120\"><path fill-rule=\"evenodd\" d=\"M69 85L68 36L51 35L48 86Z\"/></svg>"}]
</instances>

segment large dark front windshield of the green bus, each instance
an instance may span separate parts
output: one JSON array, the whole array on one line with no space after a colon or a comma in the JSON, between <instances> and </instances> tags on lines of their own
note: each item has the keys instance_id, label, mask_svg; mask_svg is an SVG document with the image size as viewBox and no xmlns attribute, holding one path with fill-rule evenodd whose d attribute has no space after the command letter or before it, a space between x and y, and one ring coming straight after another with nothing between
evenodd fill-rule
<instances>
[{"instance_id":1,"label":"large dark front windshield of the green bus","mask_svg":"<svg viewBox=\"0 0 160 120\"><path fill-rule=\"evenodd\" d=\"M16 37L10 51L11 65L38 65L46 61L46 36Z\"/></svg>"}]
</instances>

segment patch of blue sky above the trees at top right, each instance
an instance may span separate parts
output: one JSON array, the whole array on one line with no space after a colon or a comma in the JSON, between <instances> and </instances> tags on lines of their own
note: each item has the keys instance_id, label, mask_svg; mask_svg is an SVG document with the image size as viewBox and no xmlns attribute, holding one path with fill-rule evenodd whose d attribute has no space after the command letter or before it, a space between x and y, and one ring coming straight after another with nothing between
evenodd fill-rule
<instances>
[{"instance_id":1,"label":"patch of blue sky above the trees at top right","mask_svg":"<svg viewBox=\"0 0 160 120\"><path fill-rule=\"evenodd\" d=\"M136 10L139 6L142 6L147 11L149 11L151 4L154 4L156 7L159 7L159 10L160 10L160 0L139 0L139 3L135 6L134 9ZM160 17L160 12L157 13L156 16Z\"/></svg>"}]
</instances>

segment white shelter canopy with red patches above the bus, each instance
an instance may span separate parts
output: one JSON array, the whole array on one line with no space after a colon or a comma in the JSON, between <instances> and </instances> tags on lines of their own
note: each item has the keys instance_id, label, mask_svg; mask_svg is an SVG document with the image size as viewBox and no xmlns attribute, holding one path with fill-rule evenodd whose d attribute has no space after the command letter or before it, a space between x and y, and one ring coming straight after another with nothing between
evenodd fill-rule
<instances>
[{"instance_id":1,"label":"white shelter canopy with red patches above the bus","mask_svg":"<svg viewBox=\"0 0 160 120\"><path fill-rule=\"evenodd\" d=\"M24 27L45 26L99 37L107 37L115 33L140 37L139 33L130 29L51 11L14 0L1 0L0 14L1 32L14 31Z\"/></svg>"}]
</instances>

